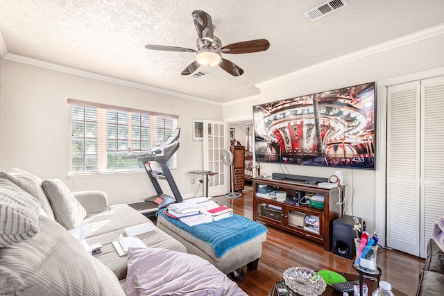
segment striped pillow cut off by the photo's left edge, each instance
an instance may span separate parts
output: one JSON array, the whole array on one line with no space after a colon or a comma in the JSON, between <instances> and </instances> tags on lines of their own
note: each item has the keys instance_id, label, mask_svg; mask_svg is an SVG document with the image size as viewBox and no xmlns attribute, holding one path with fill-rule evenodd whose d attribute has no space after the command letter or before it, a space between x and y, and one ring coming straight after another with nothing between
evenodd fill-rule
<instances>
[{"instance_id":1,"label":"striped pillow cut off by the photo's left edge","mask_svg":"<svg viewBox=\"0 0 444 296\"><path fill-rule=\"evenodd\" d=\"M0 247L15 245L39 232L40 203L18 186L0 178Z\"/></svg>"}]
</instances>

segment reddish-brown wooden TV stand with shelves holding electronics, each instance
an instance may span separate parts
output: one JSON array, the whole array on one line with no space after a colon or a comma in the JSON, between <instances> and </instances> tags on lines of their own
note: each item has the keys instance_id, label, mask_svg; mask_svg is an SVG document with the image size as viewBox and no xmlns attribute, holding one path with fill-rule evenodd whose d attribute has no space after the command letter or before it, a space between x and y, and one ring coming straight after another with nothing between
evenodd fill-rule
<instances>
[{"instance_id":1,"label":"reddish-brown wooden TV stand with shelves holding electronics","mask_svg":"<svg viewBox=\"0 0 444 296\"><path fill-rule=\"evenodd\" d=\"M280 202L276 198L257 196L259 185L273 186L273 190L285 191L287 200ZM332 223L341 213L339 202L343 201L343 189L344 186L324 189L317 184L291 179L253 178L253 220L323 243L324 250L330 251ZM297 202L298 197L316 194L324 195L323 209ZM318 228L310 228L311 226L305 223L306 216L314 220Z\"/></svg>"}]
</instances>

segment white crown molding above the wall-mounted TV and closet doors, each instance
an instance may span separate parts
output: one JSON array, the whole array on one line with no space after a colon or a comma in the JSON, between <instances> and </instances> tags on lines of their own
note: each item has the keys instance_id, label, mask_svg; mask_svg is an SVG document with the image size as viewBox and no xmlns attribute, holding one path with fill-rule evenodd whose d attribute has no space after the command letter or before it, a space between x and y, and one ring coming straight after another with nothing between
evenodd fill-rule
<instances>
[{"instance_id":1,"label":"white crown molding above the wall-mounted TV and closet doors","mask_svg":"<svg viewBox=\"0 0 444 296\"><path fill-rule=\"evenodd\" d=\"M255 87L257 87L259 89L263 89L265 87L269 87L271 85L275 85L280 82L291 80L293 78L298 78L300 76L305 76L309 73L321 71L323 69L334 67L339 64L344 64L344 63L350 62L352 60L357 60L359 58L365 58L368 55L374 55L375 53L381 53L383 51L388 51L389 49L395 49L400 46L404 46L407 44L411 44L413 42L418 42L420 40L425 40L427 38L435 37L437 35L442 35L442 34L444 34L444 23L437 25L437 26L427 28L422 31L418 31L416 33L411 33L409 35L405 35L404 37L390 40L388 42L383 42L383 43L377 44L375 46L370 46L370 47L368 47L366 49L362 49L360 51L355 51L353 53L341 55L338 58L334 58L332 60L327 60L325 62L315 64L311 67L307 67L304 69L300 69L298 71L294 71L292 73L285 74L283 76L279 76L279 77L276 77L276 78L273 78L270 80L266 80L264 82L259 82L259 83L255 84Z\"/></svg>"}]
</instances>

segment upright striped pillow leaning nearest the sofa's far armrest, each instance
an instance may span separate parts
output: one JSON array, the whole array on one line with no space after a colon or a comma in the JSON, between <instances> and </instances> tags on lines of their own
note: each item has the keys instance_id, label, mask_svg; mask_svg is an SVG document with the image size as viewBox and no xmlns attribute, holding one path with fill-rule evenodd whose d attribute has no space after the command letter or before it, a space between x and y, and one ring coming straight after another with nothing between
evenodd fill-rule
<instances>
[{"instance_id":1,"label":"upright striped pillow leaning nearest the sofa's far armrest","mask_svg":"<svg viewBox=\"0 0 444 296\"><path fill-rule=\"evenodd\" d=\"M56 221L68 230L80 225L86 210L67 185L60 179L48 179L42 182L42 187L51 202Z\"/></svg>"}]
</instances>

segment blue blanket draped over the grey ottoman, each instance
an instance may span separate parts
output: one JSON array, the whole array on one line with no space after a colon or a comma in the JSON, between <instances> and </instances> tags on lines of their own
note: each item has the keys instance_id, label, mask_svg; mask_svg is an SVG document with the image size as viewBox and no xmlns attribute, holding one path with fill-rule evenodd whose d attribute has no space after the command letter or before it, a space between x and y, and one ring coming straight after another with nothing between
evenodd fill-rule
<instances>
[{"instance_id":1,"label":"blue blanket draped over the grey ottoman","mask_svg":"<svg viewBox=\"0 0 444 296\"><path fill-rule=\"evenodd\" d=\"M267 232L264 225L244 216L233 216L189 227L178 219L170 218L160 210L157 212L180 229L210 244L216 255L221 258L228 250Z\"/></svg>"}]
</instances>

